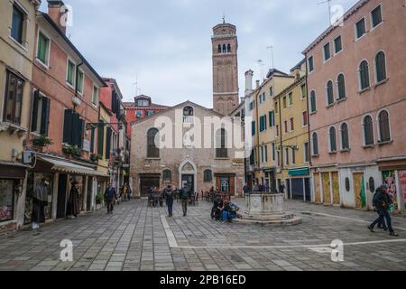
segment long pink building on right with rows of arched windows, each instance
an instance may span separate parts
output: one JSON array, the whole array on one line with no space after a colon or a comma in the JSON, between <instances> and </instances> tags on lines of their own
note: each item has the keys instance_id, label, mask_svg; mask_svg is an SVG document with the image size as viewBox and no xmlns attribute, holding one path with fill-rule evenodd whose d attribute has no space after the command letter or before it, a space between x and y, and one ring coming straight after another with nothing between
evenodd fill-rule
<instances>
[{"instance_id":1,"label":"long pink building on right with rows of arched windows","mask_svg":"<svg viewBox=\"0 0 406 289\"><path fill-rule=\"evenodd\" d=\"M314 202L370 209L387 182L406 209L404 27L404 0L362 0L304 51Z\"/></svg>"}]
</instances>

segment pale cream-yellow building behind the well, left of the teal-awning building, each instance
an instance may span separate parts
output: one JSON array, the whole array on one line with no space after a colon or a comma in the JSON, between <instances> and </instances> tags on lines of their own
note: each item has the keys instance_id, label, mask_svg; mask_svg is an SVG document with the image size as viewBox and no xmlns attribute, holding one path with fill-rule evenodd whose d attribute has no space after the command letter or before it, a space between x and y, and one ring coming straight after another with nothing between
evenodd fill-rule
<instances>
[{"instance_id":1,"label":"pale cream-yellow building behind the well, left of the teal-awning building","mask_svg":"<svg viewBox=\"0 0 406 289\"><path fill-rule=\"evenodd\" d=\"M257 82L257 88L250 98L252 103L250 109L253 109L254 116L252 123L254 150L250 158L254 188L255 185L262 184L265 191L276 190L277 126L273 98L293 81L294 77L280 70L270 70L261 85Z\"/></svg>"}]
</instances>

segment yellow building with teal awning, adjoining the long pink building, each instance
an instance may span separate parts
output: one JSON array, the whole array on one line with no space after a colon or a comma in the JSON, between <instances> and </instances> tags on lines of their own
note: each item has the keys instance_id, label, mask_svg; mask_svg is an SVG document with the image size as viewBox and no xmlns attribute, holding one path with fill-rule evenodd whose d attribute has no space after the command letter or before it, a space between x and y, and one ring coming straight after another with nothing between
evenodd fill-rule
<instances>
[{"instance_id":1,"label":"yellow building with teal awning, adjoining the long pink building","mask_svg":"<svg viewBox=\"0 0 406 289\"><path fill-rule=\"evenodd\" d=\"M309 114L306 62L291 70L294 82L273 99L275 123L276 182L287 198L310 200Z\"/></svg>"}]
</instances>

